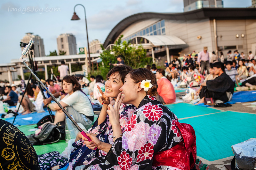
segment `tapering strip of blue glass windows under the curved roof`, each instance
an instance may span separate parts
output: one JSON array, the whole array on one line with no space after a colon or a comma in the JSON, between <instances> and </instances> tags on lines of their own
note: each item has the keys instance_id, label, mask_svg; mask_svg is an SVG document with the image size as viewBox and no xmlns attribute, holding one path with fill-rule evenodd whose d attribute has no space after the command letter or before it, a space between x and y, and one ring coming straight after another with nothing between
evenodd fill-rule
<instances>
[{"instance_id":1,"label":"tapering strip of blue glass windows under the curved roof","mask_svg":"<svg viewBox=\"0 0 256 170\"><path fill-rule=\"evenodd\" d=\"M164 19L161 21L158 21L151 26L148 26L142 30L140 30L137 33L133 33L132 35L126 37L123 39L123 41L129 41L135 36L142 36L142 35L165 35L165 21Z\"/></svg>"}]
</instances>

